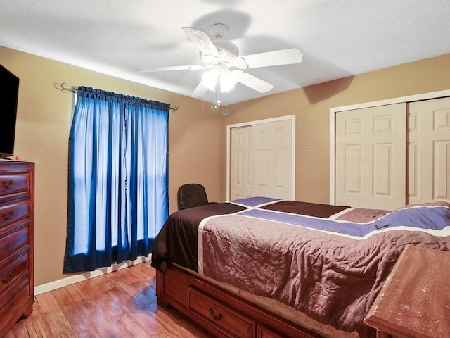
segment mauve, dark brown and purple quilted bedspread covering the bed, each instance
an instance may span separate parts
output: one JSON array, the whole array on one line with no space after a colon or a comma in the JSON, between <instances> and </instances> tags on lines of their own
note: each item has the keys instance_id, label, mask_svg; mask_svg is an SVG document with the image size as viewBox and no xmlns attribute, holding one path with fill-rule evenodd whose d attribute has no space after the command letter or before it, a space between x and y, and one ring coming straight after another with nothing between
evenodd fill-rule
<instances>
[{"instance_id":1,"label":"mauve, dark brown and purple quilted bedspread covering the bed","mask_svg":"<svg viewBox=\"0 0 450 338\"><path fill-rule=\"evenodd\" d=\"M363 319L407 244L450 251L450 205L390 212L252 198L173 213L152 265L177 263L373 337Z\"/></svg>"}]
</instances>

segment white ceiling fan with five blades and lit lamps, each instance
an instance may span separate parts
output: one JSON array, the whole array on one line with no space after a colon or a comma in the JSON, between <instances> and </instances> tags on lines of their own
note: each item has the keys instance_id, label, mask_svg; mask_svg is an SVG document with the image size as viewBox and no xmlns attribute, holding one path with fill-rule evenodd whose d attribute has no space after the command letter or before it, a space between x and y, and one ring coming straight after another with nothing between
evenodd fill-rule
<instances>
[{"instance_id":1,"label":"white ceiling fan with five blades and lit lamps","mask_svg":"<svg viewBox=\"0 0 450 338\"><path fill-rule=\"evenodd\" d=\"M160 72L167 70L208 70L195 88L192 97L203 96L207 89L215 91L217 87L217 104L220 106L220 93L234 87L239 82L257 92L269 92L274 86L243 70L269 67L273 65L290 65L302 62L302 53L297 48L266 51L264 53L239 56L236 44L224 40L228 27L223 23L215 23L210 27L210 36L202 30L182 27L182 30L200 49L200 61L203 65L180 65L173 67L157 67L141 70L143 72Z\"/></svg>"}]
</instances>

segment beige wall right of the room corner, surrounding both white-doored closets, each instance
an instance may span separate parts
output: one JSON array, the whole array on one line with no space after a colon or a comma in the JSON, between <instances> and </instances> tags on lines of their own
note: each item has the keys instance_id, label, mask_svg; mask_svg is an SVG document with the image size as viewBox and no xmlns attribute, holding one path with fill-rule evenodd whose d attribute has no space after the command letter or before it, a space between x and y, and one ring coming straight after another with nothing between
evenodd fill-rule
<instances>
[{"instance_id":1,"label":"beige wall right of the room corner, surrounding both white-doored closets","mask_svg":"<svg viewBox=\"0 0 450 338\"><path fill-rule=\"evenodd\" d=\"M227 107L222 129L295 114L295 199L327 204L330 108L444 89L450 89L450 54L234 104ZM226 144L222 146L226 152Z\"/></svg>"}]
</instances>

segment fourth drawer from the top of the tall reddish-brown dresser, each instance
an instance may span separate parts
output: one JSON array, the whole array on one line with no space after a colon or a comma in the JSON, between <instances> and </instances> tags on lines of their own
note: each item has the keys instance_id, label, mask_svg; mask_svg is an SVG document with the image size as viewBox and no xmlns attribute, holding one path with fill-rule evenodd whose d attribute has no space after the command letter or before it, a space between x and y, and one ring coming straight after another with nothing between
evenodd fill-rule
<instances>
[{"instance_id":1,"label":"fourth drawer from the top of the tall reddish-brown dresser","mask_svg":"<svg viewBox=\"0 0 450 338\"><path fill-rule=\"evenodd\" d=\"M28 251L25 248L0 262L0 294L28 271Z\"/></svg>"}]
</instances>

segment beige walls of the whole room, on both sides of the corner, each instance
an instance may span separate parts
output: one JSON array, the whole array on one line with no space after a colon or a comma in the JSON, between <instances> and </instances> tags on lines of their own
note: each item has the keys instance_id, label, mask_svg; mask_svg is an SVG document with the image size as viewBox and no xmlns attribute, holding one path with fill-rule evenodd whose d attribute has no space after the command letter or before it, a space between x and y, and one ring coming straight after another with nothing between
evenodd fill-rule
<instances>
[{"instance_id":1,"label":"beige walls of the whole room, on both sides of the corner","mask_svg":"<svg viewBox=\"0 0 450 338\"><path fill-rule=\"evenodd\" d=\"M179 106L169 118L170 211L176 190L200 182L212 201L226 192L226 125L297 116L296 199L328 203L329 109L450 89L450 54L228 106L210 104L0 46L0 63L20 77L15 155L36 161L35 285L62 274L67 213L71 94L54 84L84 85Z\"/></svg>"}]
</instances>

